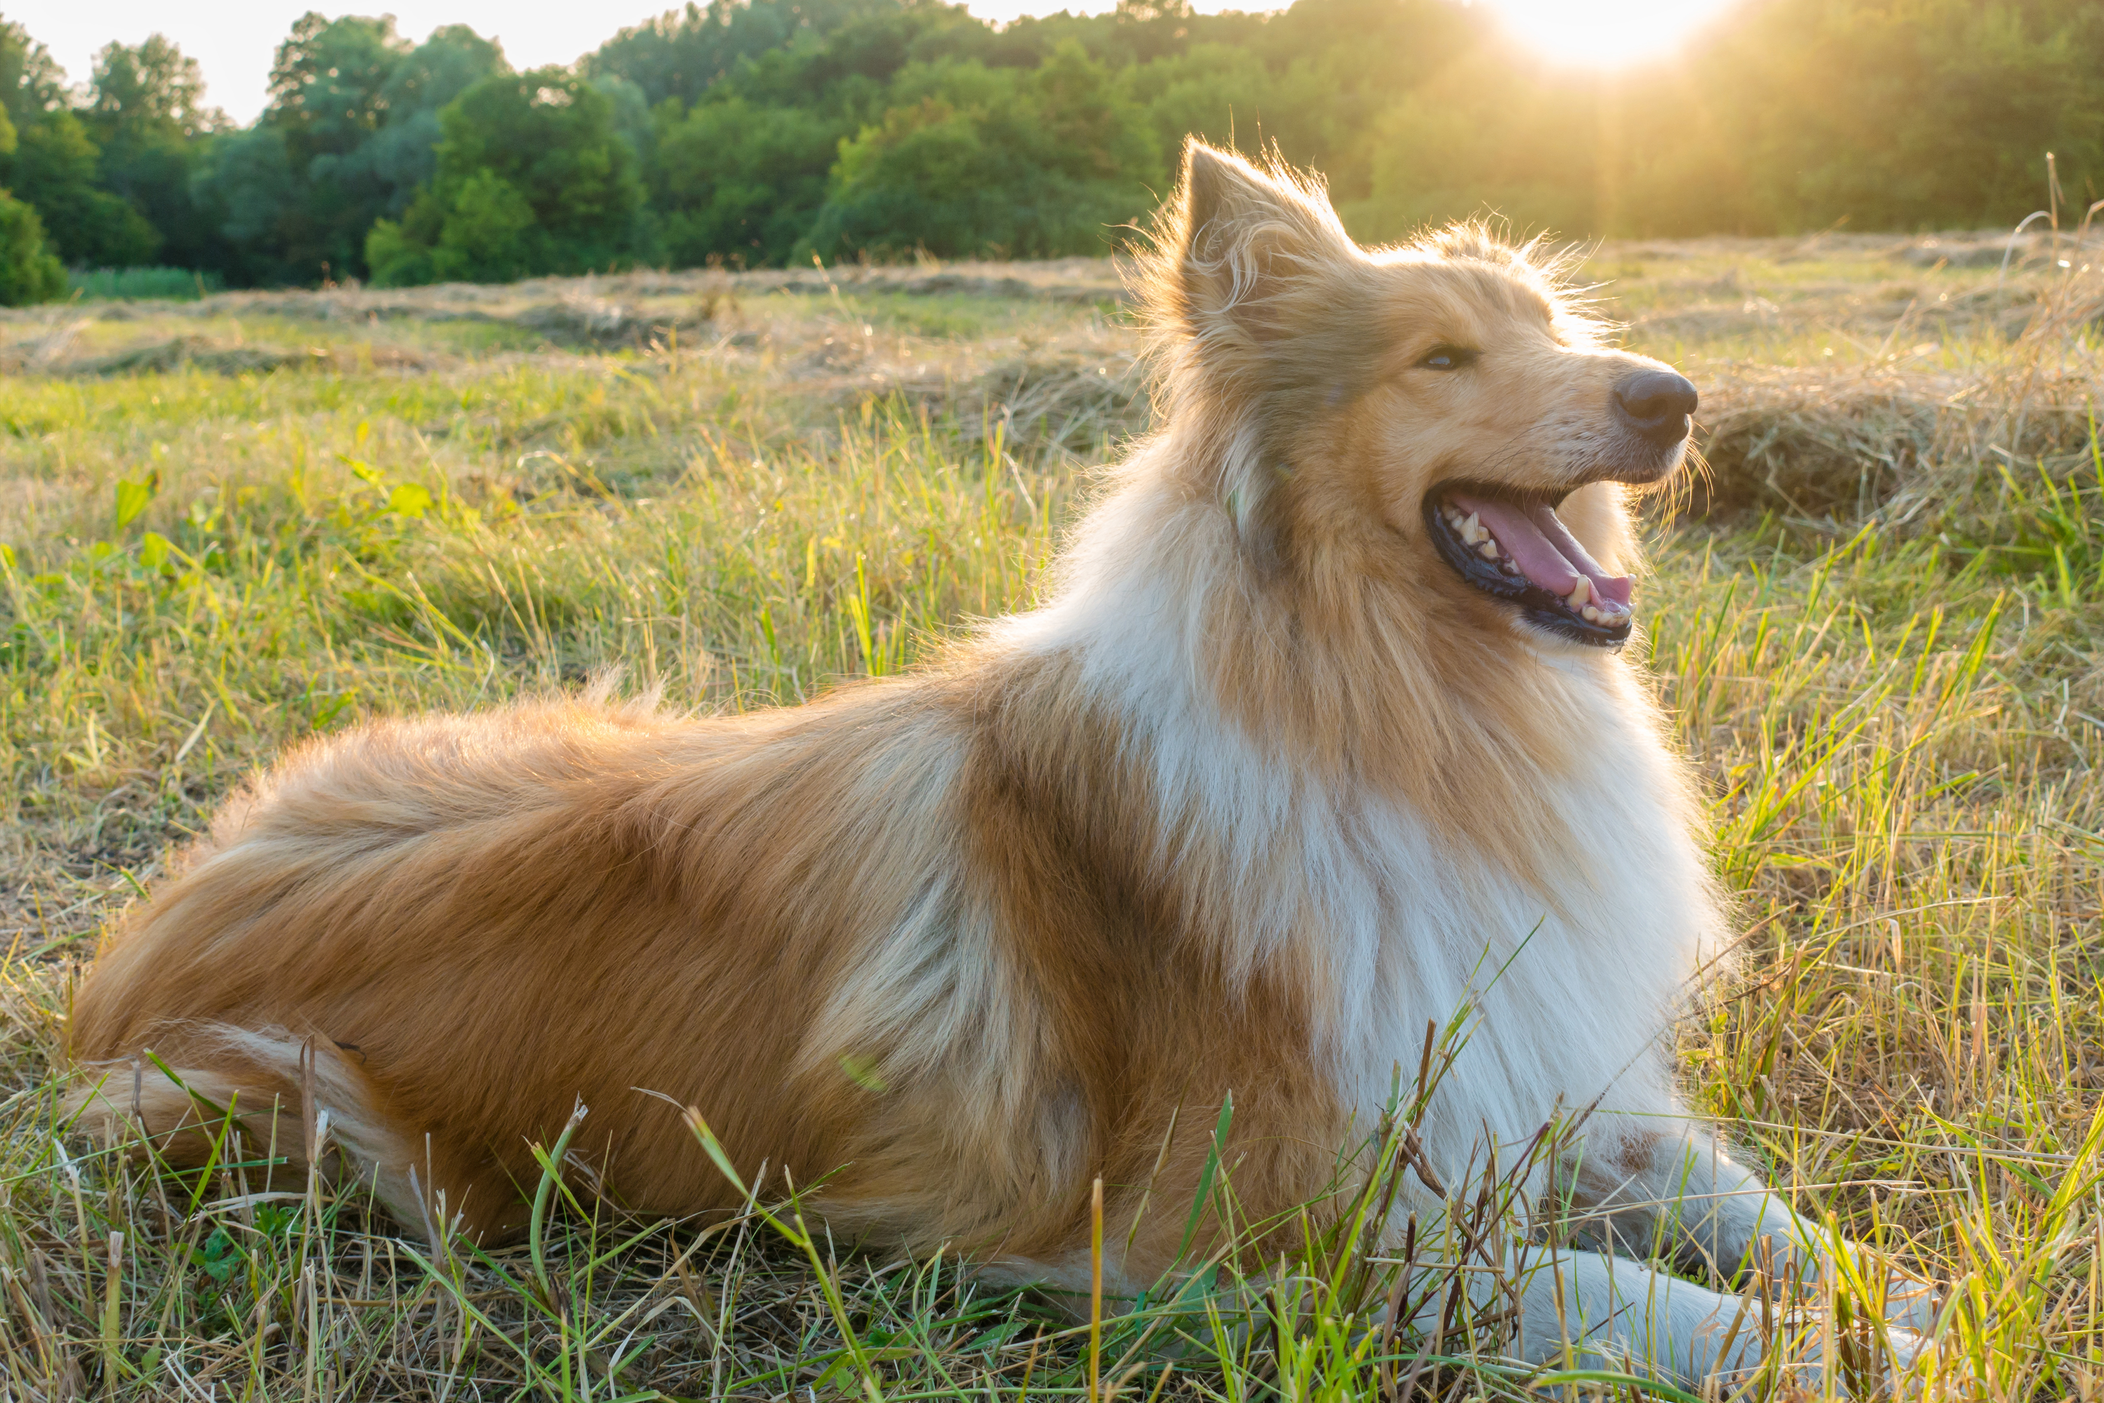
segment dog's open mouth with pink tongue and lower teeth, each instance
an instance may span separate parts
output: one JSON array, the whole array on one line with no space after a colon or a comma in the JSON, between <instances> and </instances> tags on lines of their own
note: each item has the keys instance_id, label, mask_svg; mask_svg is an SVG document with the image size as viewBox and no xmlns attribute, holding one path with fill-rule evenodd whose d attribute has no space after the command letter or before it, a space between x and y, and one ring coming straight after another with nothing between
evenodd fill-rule
<instances>
[{"instance_id":1,"label":"dog's open mouth with pink tongue and lower teeth","mask_svg":"<svg viewBox=\"0 0 2104 1403\"><path fill-rule=\"evenodd\" d=\"M1519 608L1528 623L1576 644L1620 648L1635 618L1628 576L1586 555L1557 520L1561 499L1521 499L1481 484L1424 494L1424 526L1454 572Z\"/></svg>"}]
</instances>

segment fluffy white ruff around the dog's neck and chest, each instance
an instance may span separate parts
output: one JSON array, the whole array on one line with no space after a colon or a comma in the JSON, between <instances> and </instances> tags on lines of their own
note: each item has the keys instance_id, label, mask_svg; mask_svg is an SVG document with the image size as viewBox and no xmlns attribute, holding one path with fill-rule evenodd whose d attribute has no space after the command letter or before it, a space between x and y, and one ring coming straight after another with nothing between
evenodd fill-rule
<instances>
[{"instance_id":1,"label":"fluffy white ruff around the dog's neck and chest","mask_svg":"<svg viewBox=\"0 0 2104 1403\"><path fill-rule=\"evenodd\" d=\"M1208 538L1231 526L1157 486L1128 486L1121 507L1094 513L1073 543L1069 587L999 633L1077 656L1084 686L1149 757L1168 835L1157 858L1185 883L1212 883L1214 909L1233 913L1220 951L1231 976L1277 959L1307 970L1319 999L1311 1056L1359 1127L1372 1132L1397 1066L1405 1087L1416 1077L1427 1022L1443 1033L1466 1008L1466 1043L1424 1125L1450 1182L1483 1167L1485 1130L1509 1165L1559 1111L1597 1104L1595 1132L1677 1138L1668 1024L1721 917L1628 667L1540 646L1567 694L1561 724L1589 736L1591 757L1540 795L1586 873L1553 909L1488 860L1456 862L1454 843L1435 841L1437 816L1302 778L1220 715L1201 648L1208 618L1235 606L1233 545ZM1206 578L1197 562L1222 574Z\"/></svg>"}]
</instances>

